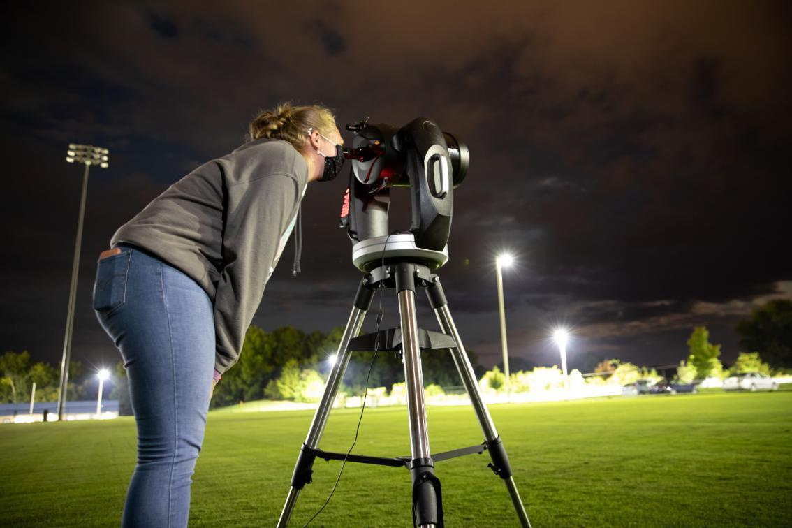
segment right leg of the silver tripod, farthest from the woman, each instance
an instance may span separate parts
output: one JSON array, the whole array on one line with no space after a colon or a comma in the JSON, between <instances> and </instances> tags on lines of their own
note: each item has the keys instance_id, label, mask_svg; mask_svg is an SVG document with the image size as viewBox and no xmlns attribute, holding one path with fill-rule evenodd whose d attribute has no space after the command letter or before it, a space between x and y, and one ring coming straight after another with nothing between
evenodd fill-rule
<instances>
[{"instance_id":1,"label":"right leg of the silver tripod, farthest from the woman","mask_svg":"<svg viewBox=\"0 0 792 528\"><path fill-rule=\"evenodd\" d=\"M443 292L443 287L440 285L440 277L435 276L431 285L427 287L426 294L428 295L429 302L432 309L435 310L437 322L440 323L440 328L443 332L453 337L456 341L456 348L451 348L451 356L454 359L457 370L462 376L462 382L470 397L470 403L473 405L474 412L478 417L478 424L482 427L484 439L489 450L489 456L492 458L492 465L495 474L503 479L504 484L508 490L508 495L512 498L512 504L520 519L520 524L524 528L530 528L531 522L528 520L528 514L525 511L523 501L520 499L520 493L517 492L517 486L512 477L512 467L508 462L506 450L501 441L501 437L497 434L493 419L489 416L489 411L484 405L482 395L478 391L478 382L476 381L476 374L473 371L473 366L470 365L470 359L467 357L467 352L462 344L462 339L459 337L459 332L454 325L454 320L451 318L451 312L448 310L448 302Z\"/></svg>"}]
</instances>

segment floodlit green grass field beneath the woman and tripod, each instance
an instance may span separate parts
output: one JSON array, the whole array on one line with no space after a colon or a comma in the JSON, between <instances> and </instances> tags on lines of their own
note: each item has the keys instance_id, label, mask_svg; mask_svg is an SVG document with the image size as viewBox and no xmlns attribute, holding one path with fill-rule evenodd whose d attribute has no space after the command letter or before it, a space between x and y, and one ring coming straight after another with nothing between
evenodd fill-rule
<instances>
[{"instance_id":1,"label":"floodlit green grass field beneath the woman and tripod","mask_svg":"<svg viewBox=\"0 0 792 528\"><path fill-rule=\"evenodd\" d=\"M792 391L493 405L534 526L792 526ZM430 407L432 451L482 441L469 407ZM274 526L313 412L211 412L191 526ZM331 414L346 450L358 412ZM409 454L406 408L371 408L355 453ZM135 425L0 427L2 526L117 526ZM519 526L488 455L439 462L447 526ZM292 517L326 500L340 462L317 461ZM310 526L412 526L406 469L347 464Z\"/></svg>"}]
</instances>

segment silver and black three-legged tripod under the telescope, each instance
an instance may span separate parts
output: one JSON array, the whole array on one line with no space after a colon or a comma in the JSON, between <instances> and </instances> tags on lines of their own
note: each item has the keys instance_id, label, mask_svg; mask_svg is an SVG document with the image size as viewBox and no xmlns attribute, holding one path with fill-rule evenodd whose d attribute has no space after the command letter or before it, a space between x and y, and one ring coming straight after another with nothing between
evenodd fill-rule
<instances>
[{"instance_id":1,"label":"silver and black three-legged tripod under the telescope","mask_svg":"<svg viewBox=\"0 0 792 528\"><path fill-rule=\"evenodd\" d=\"M402 235L404 236L404 235ZM410 235L410 238L411 235ZM440 490L440 480L434 473L434 462L455 458L466 454L483 453L489 451L492 462L488 465L493 472L503 479L509 496L517 513L520 524L530 528L531 523L523 506L516 484L512 478L512 468L508 462L506 450L497 434L492 418L489 416L478 383L470 365L459 332L451 319L447 301L440 285L440 277L433 274L425 264L426 253L416 249L410 244L410 249L398 249L398 242L394 245L385 241L380 245L385 249L394 246L397 249L390 251L392 258L386 260L385 249L382 250L382 265L374 268L364 276L357 289L352 313L338 346L336 361L330 371L329 378L322 394L322 400L310 424L308 435L299 452L294 473L291 477L291 488L281 511L277 526L285 528L291 513L294 511L300 490L310 484L311 473L316 458L329 460L346 460L347 462L360 462L364 464L386 465L391 467L406 467L413 481L413 523L421 528L441 528L443 522L443 503ZM371 255L372 252L367 251ZM412 253L412 254L411 254ZM435 253L436 252L429 252ZM446 256L447 258L447 256ZM431 259L430 259L431 260ZM432 268L438 266L435 262ZM371 306L371 298L378 287L394 288L397 291L399 316L401 327L399 329L386 329L373 334L358 336L363 326L366 313ZM443 332L431 332L419 329L415 309L415 292L423 288L435 311L437 321ZM421 370L421 350L448 349L454 359L466 392L470 397L478 422L484 433L484 442L475 446L463 447L444 453L432 454L429 450L429 436L426 422L426 405L424 401L424 381ZM382 458L366 455L332 453L318 448L322 439L330 410L333 408L338 387L344 377L345 370L353 351L378 351L400 350L404 363L404 373L407 393L407 412L409 418L409 457Z\"/></svg>"}]
</instances>

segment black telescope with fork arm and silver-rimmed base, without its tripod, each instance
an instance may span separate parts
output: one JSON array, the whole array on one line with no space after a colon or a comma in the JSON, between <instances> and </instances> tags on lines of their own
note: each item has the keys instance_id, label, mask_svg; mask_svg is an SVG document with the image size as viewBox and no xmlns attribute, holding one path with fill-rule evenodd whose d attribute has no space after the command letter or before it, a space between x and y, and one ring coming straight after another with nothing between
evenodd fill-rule
<instances>
[{"instance_id":1,"label":"black telescope with fork arm and silver-rimmed base, without its tripod","mask_svg":"<svg viewBox=\"0 0 792 528\"><path fill-rule=\"evenodd\" d=\"M436 271L448 260L454 188L470 165L467 146L425 117L401 128L347 125L354 131L349 187L341 207L341 226L352 240L352 263L369 272L383 260L409 256ZM409 229L389 234L390 188L409 188Z\"/></svg>"}]
</instances>

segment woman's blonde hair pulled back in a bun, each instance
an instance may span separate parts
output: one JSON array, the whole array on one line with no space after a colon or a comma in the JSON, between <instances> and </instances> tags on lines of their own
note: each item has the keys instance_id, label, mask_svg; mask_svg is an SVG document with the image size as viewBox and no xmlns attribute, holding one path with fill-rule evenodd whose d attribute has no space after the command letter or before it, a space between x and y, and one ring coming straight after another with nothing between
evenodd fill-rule
<instances>
[{"instance_id":1,"label":"woman's blonde hair pulled back in a bun","mask_svg":"<svg viewBox=\"0 0 792 528\"><path fill-rule=\"evenodd\" d=\"M336 127L336 118L328 108L314 104L311 106L291 106L281 103L271 110L263 110L250 121L249 139L284 139L295 149L305 147L308 129L313 128L322 135L329 135Z\"/></svg>"}]
</instances>

